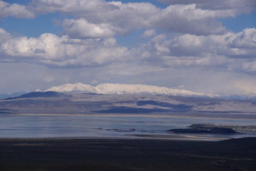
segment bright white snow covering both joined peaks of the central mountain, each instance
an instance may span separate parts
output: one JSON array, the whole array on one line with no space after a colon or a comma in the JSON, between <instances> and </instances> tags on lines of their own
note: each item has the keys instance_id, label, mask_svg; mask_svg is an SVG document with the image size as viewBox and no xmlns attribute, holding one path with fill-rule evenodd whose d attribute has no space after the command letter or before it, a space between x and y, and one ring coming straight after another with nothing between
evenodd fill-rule
<instances>
[{"instance_id":1,"label":"bright white snow covering both joined peaks of the central mountain","mask_svg":"<svg viewBox=\"0 0 256 171\"><path fill-rule=\"evenodd\" d=\"M46 91L54 92L73 92L73 93L96 93L96 94L152 94L168 96L185 96L185 97L207 97L203 93L195 93L188 90L170 89L166 87L157 87L153 85L141 84L113 84L103 83L93 87L82 83L64 84L58 87L49 88Z\"/></svg>"}]
</instances>

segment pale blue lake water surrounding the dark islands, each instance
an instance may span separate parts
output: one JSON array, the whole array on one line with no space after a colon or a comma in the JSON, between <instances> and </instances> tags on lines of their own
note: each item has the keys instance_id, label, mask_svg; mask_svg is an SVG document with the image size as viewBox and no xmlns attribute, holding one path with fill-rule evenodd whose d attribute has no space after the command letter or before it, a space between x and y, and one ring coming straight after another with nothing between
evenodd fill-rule
<instances>
[{"instance_id":1,"label":"pale blue lake water surrounding the dark islands","mask_svg":"<svg viewBox=\"0 0 256 171\"><path fill-rule=\"evenodd\" d=\"M0 137L131 137L126 134L170 135L170 133L167 133L165 130L186 128L186 126L191 124L206 123L216 125L256 125L255 120L219 118L154 118L144 116L102 115L0 115ZM113 128L123 130L134 128L136 130L132 133L106 130ZM256 132L243 133L245 134L200 134L200 136L206 139L256 137ZM189 134L189 136L198 136L198 134Z\"/></svg>"}]
</instances>

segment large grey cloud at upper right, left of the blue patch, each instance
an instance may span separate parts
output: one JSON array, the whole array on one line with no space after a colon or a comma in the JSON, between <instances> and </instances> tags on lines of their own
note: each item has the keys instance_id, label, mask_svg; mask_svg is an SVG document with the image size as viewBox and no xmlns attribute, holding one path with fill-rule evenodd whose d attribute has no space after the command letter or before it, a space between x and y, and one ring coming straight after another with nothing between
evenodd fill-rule
<instances>
[{"instance_id":1,"label":"large grey cloud at upper right, left of the blue patch","mask_svg":"<svg viewBox=\"0 0 256 171\"><path fill-rule=\"evenodd\" d=\"M218 17L233 15L228 11L197 9L195 4L170 5L150 18L154 28L196 35L224 34L226 28Z\"/></svg>"}]
</instances>

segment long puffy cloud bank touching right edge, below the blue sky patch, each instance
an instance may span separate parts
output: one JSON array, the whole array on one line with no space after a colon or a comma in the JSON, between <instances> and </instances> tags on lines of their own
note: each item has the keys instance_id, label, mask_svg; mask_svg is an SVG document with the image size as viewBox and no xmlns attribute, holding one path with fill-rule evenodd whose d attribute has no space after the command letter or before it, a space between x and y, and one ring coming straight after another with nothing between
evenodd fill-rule
<instances>
[{"instance_id":1,"label":"long puffy cloud bank touching right edge, below the blue sky patch","mask_svg":"<svg viewBox=\"0 0 256 171\"><path fill-rule=\"evenodd\" d=\"M152 53L165 52L171 56L227 56L256 58L256 29L227 32L222 35L196 36L183 34L167 40L163 35L153 38L145 49ZM165 49L165 50L163 50ZM167 53L167 54L166 54Z\"/></svg>"}]
</instances>

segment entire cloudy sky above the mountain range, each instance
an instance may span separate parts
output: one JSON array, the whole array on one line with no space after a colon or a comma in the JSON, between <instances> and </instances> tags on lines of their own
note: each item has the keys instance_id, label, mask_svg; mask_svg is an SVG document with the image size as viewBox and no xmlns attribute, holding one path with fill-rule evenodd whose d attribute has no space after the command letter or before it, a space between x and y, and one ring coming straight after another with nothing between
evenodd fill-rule
<instances>
[{"instance_id":1,"label":"entire cloudy sky above the mountain range","mask_svg":"<svg viewBox=\"0 0 256 171\"><path fill-rule=\"evenodd\" d=\"M0 0L0 93L64 83L256 95L255 0Z\"/></svg>"}]
</instances>

